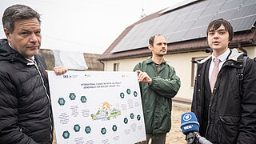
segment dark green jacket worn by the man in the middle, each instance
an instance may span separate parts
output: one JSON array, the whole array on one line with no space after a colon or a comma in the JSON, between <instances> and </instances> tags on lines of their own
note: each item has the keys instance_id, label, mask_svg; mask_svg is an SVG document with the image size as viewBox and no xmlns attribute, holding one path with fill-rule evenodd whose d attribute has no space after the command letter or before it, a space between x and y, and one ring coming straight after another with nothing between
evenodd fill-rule
<instances>
[{"instance_id":1,"label":"dark green jacket worn by the man in the middle","mask_svg":"<svg viewBox=\"0 0 256 144\"><path fill-rule=\"evenodd\" d=\"M159 68L160 70L157 69L150 57L134 67L134 71L142 70L152 79L150 85L140 82L147 134L168 133L170 131L171 98L174 98L181 86L174 67L162 62Z\"/></svg>"}]
</instances>

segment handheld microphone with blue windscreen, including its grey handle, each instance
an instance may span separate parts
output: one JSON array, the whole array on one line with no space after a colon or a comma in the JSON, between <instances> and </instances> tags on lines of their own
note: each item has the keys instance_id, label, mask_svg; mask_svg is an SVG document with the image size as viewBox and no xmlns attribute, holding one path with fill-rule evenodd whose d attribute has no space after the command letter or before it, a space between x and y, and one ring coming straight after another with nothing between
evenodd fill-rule
<instances>
[{"instance_id":1,"label":"handheld microphone with blue windscreen, including its grey handle","mask_svg":"<svg viewBox=\"0 0 256 144\"><path fill-rule=\"evenodd\" d=\"M181 119L182 133L186 135L186 141L188 144L199 143L201 144L212 144L206 138L203 138L198 133L199 123L198 119L193 112L182 114Z\"/></svg>"}]
</instances>

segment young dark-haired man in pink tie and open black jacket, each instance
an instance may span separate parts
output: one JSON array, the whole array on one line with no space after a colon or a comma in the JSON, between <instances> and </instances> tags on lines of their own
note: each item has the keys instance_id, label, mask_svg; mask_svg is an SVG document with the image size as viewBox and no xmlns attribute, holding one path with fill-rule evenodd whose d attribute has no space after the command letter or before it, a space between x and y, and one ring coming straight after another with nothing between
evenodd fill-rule
<instances>
[{"instance_id":1,"label":"young dark-haired man in pink tie and open black jacket","mask_svg":"<svg viewBox=\"0 0 256 144\"><path fill-rule=\"evenodd\" d=\"M216 19L206 33L213 54L198 62L191 107L199 133L213 143L254 144L256 62L228 48L234 34L230 22Z\"/></svg>"}]
</instances>

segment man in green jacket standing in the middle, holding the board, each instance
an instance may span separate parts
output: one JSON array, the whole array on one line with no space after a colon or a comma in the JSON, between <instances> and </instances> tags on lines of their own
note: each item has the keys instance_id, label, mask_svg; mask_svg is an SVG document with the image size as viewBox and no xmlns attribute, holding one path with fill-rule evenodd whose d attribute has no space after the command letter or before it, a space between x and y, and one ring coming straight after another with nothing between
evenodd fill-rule
<instances>
[{"instance_id":1,"label":"man in green jacket standing in the middle, holding the board","mask_svg":"<svg viewBox=\"0 0 256 144\"><path fill-rule=\"evenodd\" d=\"M157 34L149 43L152 56L139 62L134 71L138 72L140 82L146 140L151 144L164 144L170 131L171 98L177 94L181 82L174 67L163 58L167 53L166 38Z\"/></svg>"}]
</instances>

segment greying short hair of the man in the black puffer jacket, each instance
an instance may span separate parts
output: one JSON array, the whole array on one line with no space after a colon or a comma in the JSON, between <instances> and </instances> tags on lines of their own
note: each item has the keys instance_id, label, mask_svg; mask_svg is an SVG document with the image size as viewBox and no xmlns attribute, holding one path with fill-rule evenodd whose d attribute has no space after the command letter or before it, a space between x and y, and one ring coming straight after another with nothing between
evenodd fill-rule
<instances>
[{"instance_id":1,"label":"greying short hair of the man in the black puffer jacket","mask_svg":"<svg viewBox=\"0 0 256 144\"><path fill-rule=\"evenodd\" d=\"M2 16L2 25L3 28L6 28L13 33L14 31L14 22L19 19L29 19L37 18L38 22L41 24L40 14L35 10L25 5L13 5L8 7Z\"/></svg>"}]
</instances>

